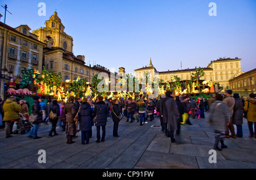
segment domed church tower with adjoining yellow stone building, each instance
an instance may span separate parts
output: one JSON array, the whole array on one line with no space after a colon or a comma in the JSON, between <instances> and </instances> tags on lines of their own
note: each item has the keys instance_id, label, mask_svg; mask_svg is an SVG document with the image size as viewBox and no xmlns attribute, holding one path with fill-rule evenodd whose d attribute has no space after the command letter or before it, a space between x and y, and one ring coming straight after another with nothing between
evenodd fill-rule
<instances>
[{"instance_id":1,"label":"domed church tower with adjoining yellow stone building","mask_svg":"<svg viewBox=\"0 0 256 180\"><path fill-rule=\"evenodd\" d=\"M93 76L100 73L93 67L85 65L84 55L74 55L73 38L64 32L64 25L57 12L44 23L44 28L39 28L33 33L47 47L44 48L44 66L48 71L61 72L63 81L86 78L92 83Z\"/></svg>"}]
</instances>

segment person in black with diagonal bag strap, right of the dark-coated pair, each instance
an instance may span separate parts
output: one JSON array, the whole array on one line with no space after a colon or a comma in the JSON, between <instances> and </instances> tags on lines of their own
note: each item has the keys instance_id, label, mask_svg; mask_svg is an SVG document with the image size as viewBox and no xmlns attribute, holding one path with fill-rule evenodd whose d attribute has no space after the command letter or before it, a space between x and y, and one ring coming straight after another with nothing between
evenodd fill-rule
<instances>
[{"instance_id":1,"label":"person in black with diagonal bag strap, right of the dark-coated pair","mask_svg":"<svg viewBox=\"0 0 256 180\"><path fill-rule=\"evenodd\" d=\"M113 106L112 106L112 119L114 122L114 127L113 127L113 136L119 137L118 135L118 125L120 122L120 119L118 116L120 115L120 110L118 108L119 101L118 100L113 100Z\"/></svg>"}]
</instances>

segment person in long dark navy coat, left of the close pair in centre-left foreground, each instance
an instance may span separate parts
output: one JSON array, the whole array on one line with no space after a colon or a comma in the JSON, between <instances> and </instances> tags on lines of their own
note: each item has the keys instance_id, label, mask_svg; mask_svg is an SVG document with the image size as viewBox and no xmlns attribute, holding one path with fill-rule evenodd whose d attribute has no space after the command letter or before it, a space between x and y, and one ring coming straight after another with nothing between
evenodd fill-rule
<instances>
[{"instance_id":1,"label":"person in long dark navy coat, left of the close pair in centre-left foreground","mask_svg":"<svg viewBox=\"0 0 256 180\"><path fill-rule=\"evenodd\" d=\"M81 131L82 144L88 144L90 131L92 130L92 107L88 103L88 98L83 98L80 105L79 129Z\"/></svg>"}]
</instances>

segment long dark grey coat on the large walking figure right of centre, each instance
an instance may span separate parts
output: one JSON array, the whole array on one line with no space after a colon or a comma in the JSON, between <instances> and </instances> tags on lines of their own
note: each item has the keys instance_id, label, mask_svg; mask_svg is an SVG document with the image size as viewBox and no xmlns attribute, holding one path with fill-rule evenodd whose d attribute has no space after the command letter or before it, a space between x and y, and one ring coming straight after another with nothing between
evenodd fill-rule
<instances>
[{"instance_id":1,"label":"long dark grey coat on the large walking figure right of centre","mask_svg":"<svg viewBox=\"0 0 256 180\"><path fill-rule=\"evenodd\" d=\"M181 117L181 115L177 110L177 105L174 98L167 97L163 106L165 106L163 110L163 119L165 119L165 121L168 123L168 131L177 130L177 117Z\"/></svg>"}]
</instances>

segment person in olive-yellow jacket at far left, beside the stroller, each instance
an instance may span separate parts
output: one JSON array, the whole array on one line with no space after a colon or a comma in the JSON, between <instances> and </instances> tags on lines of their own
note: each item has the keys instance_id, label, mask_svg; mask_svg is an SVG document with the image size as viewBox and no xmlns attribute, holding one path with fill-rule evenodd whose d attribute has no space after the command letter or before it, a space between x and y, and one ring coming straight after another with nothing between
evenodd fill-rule
<instances>
[{"instance_id":1,"label":"person in olive-yellow jacket at far left, beside the stroller","mask_svg":"<svg viewBox=\"0 0 256 180\"><path fill-rule=\"evenodd\" d=\"M21 130L20 134L25 134L25 129L24 129L22 120L19 118L19 110L20 108L18 103L16 102L15 96L11 96L9 99L7 99L5 104L3 105L3 112L5 114L3 117L3 121L5 121L6 138L12 137L11 121L18 122Z\"/></svg>"}]
</instances>

